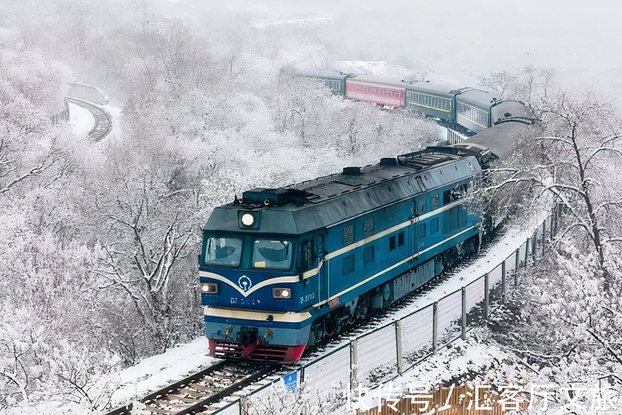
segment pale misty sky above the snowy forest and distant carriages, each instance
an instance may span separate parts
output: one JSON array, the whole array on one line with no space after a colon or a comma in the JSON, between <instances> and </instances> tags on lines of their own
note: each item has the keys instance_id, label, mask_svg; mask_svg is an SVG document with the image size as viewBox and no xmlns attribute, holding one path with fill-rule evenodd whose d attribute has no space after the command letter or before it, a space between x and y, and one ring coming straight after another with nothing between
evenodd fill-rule
<instances>
[{"instance_id":1,"label":"pale misty sky above the snowy forest and distant carriages","mask_svg":"<svg viewBox=\"0 0 622 415\"><path fill-rule=\"evenodd\" d=\"M480 77L527 64L576 80L603 72L616 80L622 72L620 0L174 0L162 11L205 24L233 13L258 22L335 17L323 29L334 57L446 75Z\"/></svg>"}]
</instances>

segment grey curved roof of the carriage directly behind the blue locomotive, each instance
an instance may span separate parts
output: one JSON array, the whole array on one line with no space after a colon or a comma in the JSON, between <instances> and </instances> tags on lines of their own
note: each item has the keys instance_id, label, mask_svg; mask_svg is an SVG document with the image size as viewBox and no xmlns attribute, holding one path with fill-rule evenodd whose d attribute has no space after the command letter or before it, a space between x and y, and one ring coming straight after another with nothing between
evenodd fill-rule
<instances>
[{"instance_id":1,"label":"grey curved roof of the carriage directly behind the blue locomotive","mask_svg":"<svg viewBox=\"0 0 622 415\"><path fill-rule=\"evenodd\" d=\"M466 144L479 144L488 147L495 156L506 161L514 152L514 144L522 137L535 137L540 129L539 124L527 124L518 121L506 121L487 128L481 133L466 139Z\"/></svg>"}]
</instances>

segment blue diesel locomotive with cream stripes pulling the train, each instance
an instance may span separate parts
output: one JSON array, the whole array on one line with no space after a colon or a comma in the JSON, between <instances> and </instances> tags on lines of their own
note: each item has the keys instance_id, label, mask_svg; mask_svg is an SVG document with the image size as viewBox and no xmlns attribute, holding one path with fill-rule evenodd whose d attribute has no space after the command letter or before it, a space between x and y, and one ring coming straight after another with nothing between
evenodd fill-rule
<instances>
[{"instance_id":1,"label":"blue diesel locomotive with cream stripes pulling the train","mask_svg":"<svg viewBox=\"0 0 622 415\"><path fill-rule=\"evenodd\" d=\"M249 190L215 208L199 266L210 355L297 361L475 253L481 222L457 195L529 124L509 118L461 144Z\"/></svg>"}]
</instances>

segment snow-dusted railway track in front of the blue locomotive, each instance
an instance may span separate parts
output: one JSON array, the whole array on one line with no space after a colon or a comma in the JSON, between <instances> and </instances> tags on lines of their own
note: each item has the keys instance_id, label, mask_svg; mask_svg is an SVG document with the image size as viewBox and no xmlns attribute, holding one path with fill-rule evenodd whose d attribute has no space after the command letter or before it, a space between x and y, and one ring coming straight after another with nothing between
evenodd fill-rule
<instances>
[{"instance_id":1,"label":"snow-dusted railway track in front of the blue locomotive","mask_svg":"<svg viewBox=\"0 0 622 415\"><path fill-rule=\"evenodd\" d=\"M279 365L258 365L230 360L193 373L180 381L158 389L141 399L146 405L141 414L207 415L218 403L236 391L276 373ZM105 415L129 415L132 404L120 406Z\"/></svg>"}]
</instances>

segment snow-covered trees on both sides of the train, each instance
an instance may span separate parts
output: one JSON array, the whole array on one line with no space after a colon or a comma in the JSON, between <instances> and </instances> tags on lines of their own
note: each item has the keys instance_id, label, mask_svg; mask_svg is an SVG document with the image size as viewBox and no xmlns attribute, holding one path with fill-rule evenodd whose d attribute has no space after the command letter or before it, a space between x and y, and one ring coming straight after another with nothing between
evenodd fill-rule
<instances>
[{"instance_id":1,"label":"snow-covered trees on both sides of the train","mask_svg":"<svg viewBox=\"0 0 622 415\"><path fill-rule=\"evenodd\" d=\"M111 371L201 336L213 207L443 139L431 121L296 77L335 58L313 26L203 27L132 2L5 2L0 16L0 411L101 409ZM52 124L66 82L122 108L103 142ZM511 299L518 323L490 341L543 368L542 383L622 383L618 111L540 68L481 85L544 126L482 191L525 182L523 217L552 198L568 207Z\"/></svg>"}]
</instances>

